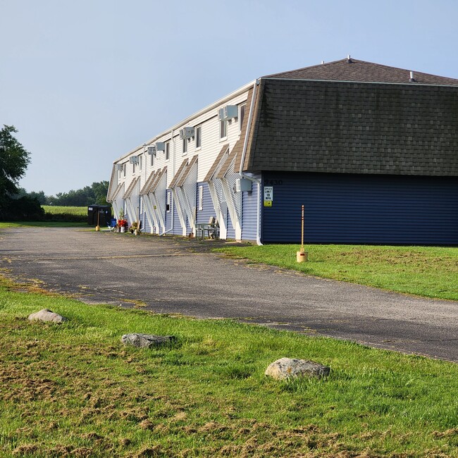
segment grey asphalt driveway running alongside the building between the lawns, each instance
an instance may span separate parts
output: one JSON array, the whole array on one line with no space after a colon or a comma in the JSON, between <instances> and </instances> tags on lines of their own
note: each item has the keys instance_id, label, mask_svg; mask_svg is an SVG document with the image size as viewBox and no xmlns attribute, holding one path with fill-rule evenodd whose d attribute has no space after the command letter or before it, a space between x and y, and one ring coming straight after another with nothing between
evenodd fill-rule
<instances>
[{"instance_id":1,"label":"grey asphalt driveway running alongside the building between the lawns","mask_svg":"<svg viewBox=\"0 0 458 458\"><path fill-rule=\"evenodd\" d=\"M0 266L89 303L236 318L458 361L458 302L250 266L209 242L62 228L0 231Z\"/></svg>"}]
</instances>

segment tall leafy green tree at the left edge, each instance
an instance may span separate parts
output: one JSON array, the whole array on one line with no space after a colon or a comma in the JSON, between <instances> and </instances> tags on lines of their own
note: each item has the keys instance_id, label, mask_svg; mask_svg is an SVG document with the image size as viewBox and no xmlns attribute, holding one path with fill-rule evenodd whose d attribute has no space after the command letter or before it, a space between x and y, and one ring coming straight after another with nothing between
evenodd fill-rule
<instances>
[{"instance_id":1,"label":"tall leafy green tree at the left edge","mask_svg":"<svg viewBox=\"0 0 458 458\"><path fill-rule=\"evenodd\" d=\"M18 192L18 181L30 163L30 153L14 137L16 132L13 125L4 124L0 130L0 208Z\"/></svg>"}]
</instances>

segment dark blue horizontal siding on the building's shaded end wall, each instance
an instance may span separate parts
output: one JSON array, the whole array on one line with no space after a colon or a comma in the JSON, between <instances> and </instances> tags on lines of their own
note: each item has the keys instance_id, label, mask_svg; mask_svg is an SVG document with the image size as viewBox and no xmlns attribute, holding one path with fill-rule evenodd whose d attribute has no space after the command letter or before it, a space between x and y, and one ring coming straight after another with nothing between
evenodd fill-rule
<instances>
[{"instance_id":1,"label":"dark blue horizontal siding on the building's shaded end wall","mask_svg":"<svg viewBox=\"0 0 458 458\"><path fill-rule=\"evenodd\" d=\"M264 173L273 206L262 207L262 241L458 244L458 178Z\"/></svg>"}]
</instances>

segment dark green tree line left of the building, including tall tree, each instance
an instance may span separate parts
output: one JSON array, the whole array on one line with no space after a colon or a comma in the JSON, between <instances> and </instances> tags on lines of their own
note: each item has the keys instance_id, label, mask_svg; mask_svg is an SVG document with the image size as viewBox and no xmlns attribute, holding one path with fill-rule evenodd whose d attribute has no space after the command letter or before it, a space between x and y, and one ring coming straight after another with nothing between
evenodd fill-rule
<instances>
[{"instance_id":1,"label":"dark green tree line left of the building, including tall tree","mask_svg":"<svg viewBox=\"0 0 458 458\"><path fill-rule=\"evenodd\" d=\"M18 187L30 163L30 152L16 139L17 132L13 125L4 125L0 130L0 221L41 220L44 218L42 205L107 204L108 181L93 182L81 190L58 192L55 196Z\"/></svg>"}]
</instances>

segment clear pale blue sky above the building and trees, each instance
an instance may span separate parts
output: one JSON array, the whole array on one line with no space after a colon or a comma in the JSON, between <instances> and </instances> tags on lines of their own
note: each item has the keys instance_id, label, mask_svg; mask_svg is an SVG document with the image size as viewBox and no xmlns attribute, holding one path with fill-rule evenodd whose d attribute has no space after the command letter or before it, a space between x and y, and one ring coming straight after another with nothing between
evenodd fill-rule
<instances>
[{"instance_id":1,"label":"clear pale blue sky above the building and trees","mask_svg":"<svg viewBox=\"0 0 458 458\"><path fill-rule=\"evenodd\" d=\"M0 0L0 125L20 186L109 180L111 163L262 75L352 57L458 78L456 0Z\"/></svg>"}]
</instances>

